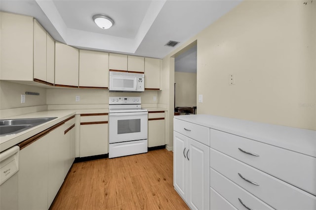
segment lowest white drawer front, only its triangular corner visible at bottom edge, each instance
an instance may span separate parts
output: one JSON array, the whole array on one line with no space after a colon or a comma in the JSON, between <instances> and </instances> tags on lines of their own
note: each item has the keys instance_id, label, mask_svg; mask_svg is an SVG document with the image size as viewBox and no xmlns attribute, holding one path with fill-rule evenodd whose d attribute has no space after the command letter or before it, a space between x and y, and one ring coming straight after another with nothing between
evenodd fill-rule
<instances>
[{"instance_id":1,"label":"lowest white drawer front, only its triangular corner visible at bottom edge","mask_svg":"<svg viewBox=\"0 0 316 210\"><path fill-rule=\"evenodd\" d=\"M210 210L237 210L225 198L210 187Z\"/></svg>"}]
</instances>

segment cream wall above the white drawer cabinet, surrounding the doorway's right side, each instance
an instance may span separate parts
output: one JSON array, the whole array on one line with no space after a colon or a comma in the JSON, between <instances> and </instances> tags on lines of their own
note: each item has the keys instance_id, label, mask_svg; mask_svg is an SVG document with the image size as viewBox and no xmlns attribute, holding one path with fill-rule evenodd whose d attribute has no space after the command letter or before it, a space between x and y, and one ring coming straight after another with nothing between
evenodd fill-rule
<instances>
[{"instance_id":1,"label":"cream wall above the white drawer cabinet, surrounding the doorway's right side","mask_svg":"<svg viewBox=\"0 0 316 210\"><path fill-rule=\"evenodd\" d=\"M197 113L316 130L315 4L245 0L183 44L197 40Z\"/></svg>"}]
</instances>

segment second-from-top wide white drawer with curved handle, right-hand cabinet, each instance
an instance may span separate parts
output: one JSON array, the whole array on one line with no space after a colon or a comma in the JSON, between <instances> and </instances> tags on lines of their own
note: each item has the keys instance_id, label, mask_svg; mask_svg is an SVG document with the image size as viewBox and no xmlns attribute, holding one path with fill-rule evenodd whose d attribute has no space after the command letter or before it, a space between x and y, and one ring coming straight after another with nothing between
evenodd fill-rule
<instances>
[{"instance_id":1,"label":"second-from-top wide white drawer with curved handle, right-hand cabinet","mask_svg":"<svg viewBox=\"0 0 316 210\"><path fill-rule=\"evenodd\" d=\"M210 148L210 167L275 209L316 209L316 197ZM244 180L238 173L248 181ZM213 177L211 177L212 179ZM255 182L259 185L250 183Z\"/></svg>"}]
</instances>

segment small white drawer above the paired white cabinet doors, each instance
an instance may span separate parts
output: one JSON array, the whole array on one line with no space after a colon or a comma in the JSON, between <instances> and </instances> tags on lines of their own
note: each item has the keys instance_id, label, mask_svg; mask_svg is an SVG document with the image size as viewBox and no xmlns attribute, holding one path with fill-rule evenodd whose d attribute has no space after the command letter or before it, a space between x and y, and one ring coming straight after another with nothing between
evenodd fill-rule
<instances>
[{"instance_id":1,"label":"small white drawer above the paired white cabinet doors","mask_svg":"<svg viewBox=\"0 0 316 210\"><path fill-rule=\"evenodd\" d=\"M179 119L173 119L173 130L209 146L209 128Z\"/></svg>"}]
</instances>

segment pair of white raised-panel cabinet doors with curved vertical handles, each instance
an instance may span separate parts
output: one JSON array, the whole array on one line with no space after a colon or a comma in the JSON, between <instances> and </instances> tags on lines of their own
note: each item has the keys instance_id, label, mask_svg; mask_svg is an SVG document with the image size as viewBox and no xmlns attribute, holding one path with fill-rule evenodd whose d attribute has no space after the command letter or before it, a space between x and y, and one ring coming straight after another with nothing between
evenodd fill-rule
<instances>
[{"instance_id":1,"label":"pair of white raised-panel cabinet doors with curved vertical handles","mask_svg":"<svg viewBox=\"0 0 316 210\"><path fill-rule=\"evenodd\" d=\"M192 210L209 209L209 147L173 133L173 185Z\"/></svg>"}]
</instances>

